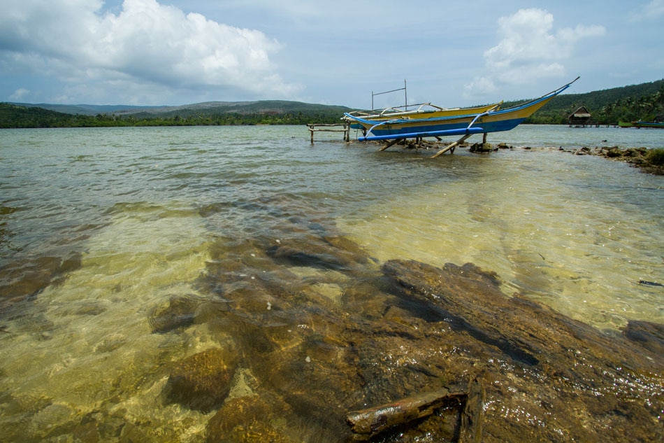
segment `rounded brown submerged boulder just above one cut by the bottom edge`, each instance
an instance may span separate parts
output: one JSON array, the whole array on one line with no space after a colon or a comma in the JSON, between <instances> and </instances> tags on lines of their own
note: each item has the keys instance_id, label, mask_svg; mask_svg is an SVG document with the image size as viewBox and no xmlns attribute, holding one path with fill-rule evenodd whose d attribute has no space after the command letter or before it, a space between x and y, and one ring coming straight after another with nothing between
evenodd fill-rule
<instances>
[{"instance_id":1,"label":"rounded brown submerged boulder just above one cut by the bottom edge","mask_svg":"<svg viewBox=\"0 0 664 443\"><path fill-rule=\"evenodd\" d=\"M233 352L216 348L185 358L168 377L168 398L189 409L209 412L228 395L236 360Z\"/></svg>"}]
</instances>

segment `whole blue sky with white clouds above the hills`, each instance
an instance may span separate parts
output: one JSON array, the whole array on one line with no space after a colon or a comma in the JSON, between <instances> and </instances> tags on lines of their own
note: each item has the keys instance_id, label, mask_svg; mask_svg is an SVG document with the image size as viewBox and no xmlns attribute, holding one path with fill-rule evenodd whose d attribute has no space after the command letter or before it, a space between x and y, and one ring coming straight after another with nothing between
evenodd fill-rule
<instances>
[{"instance_id":1,"label":"whole blue sky with white clouds above the hills","mask_svg":"<svg viewBox=\"0 0 664 443\"><path fill-rule=\"evenodd\" d=\"M0 101L470 106L664 78L664 0L0 0ZM403 104L403 91L375 107Z\"/></svg>"}]
</instances>

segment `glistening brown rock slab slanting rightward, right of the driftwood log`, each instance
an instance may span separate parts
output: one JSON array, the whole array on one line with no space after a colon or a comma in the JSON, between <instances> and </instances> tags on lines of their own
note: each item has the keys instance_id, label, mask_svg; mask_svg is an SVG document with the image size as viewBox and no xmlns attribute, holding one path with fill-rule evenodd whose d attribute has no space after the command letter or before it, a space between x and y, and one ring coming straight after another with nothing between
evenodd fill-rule
<instances>
[{"instance_id":1,"label":"glistening brown rock slab slanting rightward, right of the driftwood log","mask_svg":"<svg viewBox=\"0 0 664 443\"><path fill-rule=\"evenodd\" d=\"M374 379L389 380L385 372L396 367L403 382L417 388L423 378L449 383L479 374L486 386L484 442L664 438L656 419L664 407L661 353L635 353L627 339L507 297L495 274L474 265L441 269L392 260L384 273L403 306L429 321L419 328L426 339L409 347L397 337L380 337L391 346L377 337L372 346L359 346L361 361L363 353L376 358L391 349L391 358L374 368ZM384 385L386 391L394 384Z\"/></svg>"}]
</instances>

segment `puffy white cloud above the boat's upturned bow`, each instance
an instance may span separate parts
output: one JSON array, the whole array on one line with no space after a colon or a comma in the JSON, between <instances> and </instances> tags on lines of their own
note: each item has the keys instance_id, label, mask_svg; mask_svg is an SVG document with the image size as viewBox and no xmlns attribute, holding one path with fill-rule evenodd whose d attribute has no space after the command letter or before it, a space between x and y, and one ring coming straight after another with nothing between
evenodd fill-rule
<instances>
[{"instance_id":1,"label":"puffy white cloud above the boat's upturned bow","mask_svg":"<svg viewBox=\"0 0 664 443\"><path fill-rule=\"evenodd\" d=\"M484 52L489 74L465 85L467 96L492 92L498 85L519 85L565 76L563 61L582 38L602 36L602 26L577 25L554 30L554 16L542 9L521 9L498 19L498 45ZM491 87L489 89L489 86Z\"/></svg>"}]
</instances>

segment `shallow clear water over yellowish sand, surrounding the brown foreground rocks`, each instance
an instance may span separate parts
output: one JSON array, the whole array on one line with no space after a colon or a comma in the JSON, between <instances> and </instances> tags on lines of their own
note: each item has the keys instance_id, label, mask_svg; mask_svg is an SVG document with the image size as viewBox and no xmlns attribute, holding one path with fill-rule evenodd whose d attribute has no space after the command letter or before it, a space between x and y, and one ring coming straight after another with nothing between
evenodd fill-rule
<instances>
[{"instance_id":1,"label":"shallow clear water over yellowish sand, surrounding the brown foreground rocks","mask_svg":"<svg viewBox=\"0 0 664 443\"><path fill-rule=\"evenodd\" d=\"M521 126L489 136L513 150L437 159L319 138L310 146L306 127L0 132L0 426L39 440L103 411L150 421L164 441L201 437L205 414L157 408L161 366L233 337L204 324L151 334L150 312L173 295L215 297L200 279L220 256L245 265L233 278L254 279L266 270L247 245L314 224L377 262L474 262L505 293L601 329L664 323L663 288L639 283L664 283L663 178L558 151L661 148L664 131ZM335 300L346 277L333 274L289 276Z\"/></svg>"}]
</instances>

